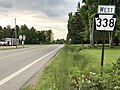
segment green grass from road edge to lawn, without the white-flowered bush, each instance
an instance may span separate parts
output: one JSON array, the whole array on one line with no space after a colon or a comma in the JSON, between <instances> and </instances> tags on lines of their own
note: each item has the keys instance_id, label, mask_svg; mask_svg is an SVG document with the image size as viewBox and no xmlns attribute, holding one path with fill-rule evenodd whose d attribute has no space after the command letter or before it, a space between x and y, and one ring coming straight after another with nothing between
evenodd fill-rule
<instances>
[{"instance_id":1,"label":"green grass from road edge to lawn, without the white-flowered bush","mask_svg":"<svg viewBox=\"0 0 120 90\"><path fill-rule=\"evenodd\" d=\"M110 68L117 61L119 52L120 47L105 48L105 68ZM82 84L82 80L88 78L90 72L100 73L100 61L101 48L65 46L45 68L36 85L28 85L23 90L77 90L77 81Z\"/></svg>"}]
</instances>

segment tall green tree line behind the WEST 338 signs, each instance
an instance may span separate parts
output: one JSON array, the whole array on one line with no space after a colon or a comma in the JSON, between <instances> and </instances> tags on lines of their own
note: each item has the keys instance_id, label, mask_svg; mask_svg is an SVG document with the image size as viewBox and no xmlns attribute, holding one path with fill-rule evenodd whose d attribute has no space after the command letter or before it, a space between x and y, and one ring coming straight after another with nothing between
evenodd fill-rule
<instances>
[{"instance_id":1,"label":"tall green tree line behind the WEST 338 signs","mask_svg":"<svg viewBox=\"0 0 120 90\"><path fill-rule=\"evenodd\" d=\"M80 6L78 2L75 13L68 14L68 34L67 42L72 44L90 43L90 47L102 43L102 32L94 30L94 16L97 13L98 5L115 5L116 6L116 31L106 32L106 43L109 47L119 45L120 41L120 0L82 0L85 4Z\"/></svg>"}]
</instances>

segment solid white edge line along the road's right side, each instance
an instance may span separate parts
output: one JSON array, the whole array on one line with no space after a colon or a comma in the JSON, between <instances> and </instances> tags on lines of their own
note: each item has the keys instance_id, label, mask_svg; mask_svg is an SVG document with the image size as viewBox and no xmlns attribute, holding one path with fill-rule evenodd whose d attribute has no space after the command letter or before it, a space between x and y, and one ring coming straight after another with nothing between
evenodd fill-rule
<instances>
[{"instance_id":1,"label":"solid white edge line along the road's right side","mask_svg":"<svg viewBox=\"0 0 120 90\"><path fill-rule=\"evenodd\" d=\"M52 54L53 52L59 50L61 47L63 47L63 46L60 46L60 47L56 48L56 49L53 50L52 52L44 55L43 57L37 59L36 61L34 61L34 62L30 63L30 64L28 64L27 66L23 67L22 69L18 70L17 72L15 72L15 73L11 74L10 76L2 79L2 80L0 81L0 86L3 85L4 83L8 82L9 80L11 80L12 78L14 78L15 76L17 76L18 74L22 73L23 71L25 71L25 70L28 69L29 67L33 66L34 64L36 64L37 62L39 62L39 61L42 60L43 58L45 58L45 57L47 57L48 55Z\"/></svg>"}]
</instances>

